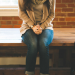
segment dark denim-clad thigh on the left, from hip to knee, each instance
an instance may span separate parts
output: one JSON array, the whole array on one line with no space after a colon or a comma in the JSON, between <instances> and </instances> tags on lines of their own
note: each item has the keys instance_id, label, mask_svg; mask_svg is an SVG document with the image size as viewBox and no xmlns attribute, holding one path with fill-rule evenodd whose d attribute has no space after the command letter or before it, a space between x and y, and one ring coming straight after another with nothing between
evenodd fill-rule
<instances>
[{"instance_id":1,"label":"dark denim-clad thigh on the left, from hip to knee","mask_svg":"<svg viewBox=\"0 0 75 75\"><path fill-rule=\"evenodd\" d=\"M37 35L32 29L28 29L23 35L22 40L26 45L37 44Z\"/></svg>"}]
</instances>

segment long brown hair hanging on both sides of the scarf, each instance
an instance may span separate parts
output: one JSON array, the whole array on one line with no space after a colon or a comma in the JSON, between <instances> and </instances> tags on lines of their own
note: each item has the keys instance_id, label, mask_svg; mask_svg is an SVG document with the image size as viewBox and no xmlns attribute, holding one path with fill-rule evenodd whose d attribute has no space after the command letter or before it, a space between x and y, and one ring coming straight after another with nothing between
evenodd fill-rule
<instances>
[{"instance_id":1,"label":"long brown hair hanging on both sides of the scarf","mask_svg":"<svg viewBox=\"0 0 75 75\"><path fill-rule=\"evenodd\" d=\"M24 7L24 9L32 11L32 9L31 9L32 8L31 3L32 3L32 0L23 0L23 7ZM50 8L49 0L46 0L44 3L47 5L47 8L49 9Z\"/></svg>"}]
</instances>

